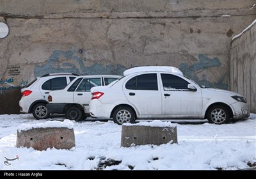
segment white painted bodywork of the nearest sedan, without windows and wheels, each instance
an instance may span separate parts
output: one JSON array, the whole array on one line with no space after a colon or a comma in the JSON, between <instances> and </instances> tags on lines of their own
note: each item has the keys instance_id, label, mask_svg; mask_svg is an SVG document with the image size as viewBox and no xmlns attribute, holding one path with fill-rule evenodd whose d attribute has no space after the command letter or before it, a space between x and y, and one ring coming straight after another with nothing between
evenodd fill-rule
<instances>
[{"instance_id":1,"label":"white painted bodywork of the nearest sedan, without windows and wheels","mask_svg":"<svg viewBox=\"0 0 256 179\"><path fill-rule=\"evenodd\" d=\"M250 116L250 106L245 102L239 102L232 96L239 96L238 93L223 89L201 88L194 81L189 80L180 73L168 72L165 69L142 70L127 74L112 86L106 88L93 88L92 93L104 93L100 98L95 98L90 102L90 114L93 117L112 118L116 107L127 105L136 113L136 118L200 118L204 119L209 107L221 103L228 109L230 107L234 119ZM157 74L158 90L138 90L127 89L127 81L143 74ZM175 75L184 79L195 87L191 90L164 90L161 74ZM134 93L129 95L130 93ZM167 94L168 96L165 96Z\"/></svg>"}]
</instances>

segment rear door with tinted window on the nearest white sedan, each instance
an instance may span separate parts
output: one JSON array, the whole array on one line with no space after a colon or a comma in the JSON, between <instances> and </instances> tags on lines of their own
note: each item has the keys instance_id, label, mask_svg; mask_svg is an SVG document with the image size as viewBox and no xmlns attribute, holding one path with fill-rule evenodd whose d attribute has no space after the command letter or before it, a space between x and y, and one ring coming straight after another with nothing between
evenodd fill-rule
<instances>
[{"instance_id":1,"label":"rear door with tinted window on the nearest white sedan","mask_svg":"<svg viewBox=\"0 0 256 179\"><path fill-rule=\"evenodd\" d=\"M161 115L162 98L157 73L136 75L128 79L124 82L123 91L141 116Z\"/></svg>"}]
</instances>

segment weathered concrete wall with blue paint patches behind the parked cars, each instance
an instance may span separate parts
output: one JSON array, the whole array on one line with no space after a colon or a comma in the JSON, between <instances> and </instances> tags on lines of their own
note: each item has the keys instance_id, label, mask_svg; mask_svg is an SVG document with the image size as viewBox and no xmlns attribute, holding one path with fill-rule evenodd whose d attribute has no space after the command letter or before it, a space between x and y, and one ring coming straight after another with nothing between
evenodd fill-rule
<instances>
[{"instance_id":1,"label":"weathered concrete wall with blue paint patches behind the parked cars","mask_svg":"<svg viewBox=\"0 0 256 179\"><path fill-rule=\"evenodd\" d=\"M0 0L10 27L0 40L0 93L51 72L122 74L141 65L176 66L228 89L231 38L256 14L254 0L234 1Z\"/></svg>"}]
</instances>

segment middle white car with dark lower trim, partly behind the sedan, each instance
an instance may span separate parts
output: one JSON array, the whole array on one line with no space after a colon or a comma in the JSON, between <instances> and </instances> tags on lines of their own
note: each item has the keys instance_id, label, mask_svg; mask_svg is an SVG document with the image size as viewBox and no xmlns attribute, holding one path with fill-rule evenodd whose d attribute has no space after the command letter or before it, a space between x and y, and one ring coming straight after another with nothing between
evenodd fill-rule
<instances>
[{"instance_id":1,"label":"middle white car with dark lower trim, partly behind the sedan","mask_svg":"<svg viewBox=\"0 0 256 179\"><path fill-rule=\"evenodd\" d=\"M92 98L91 88L106 86L120 79L118 75L84 75L70 82L64 89L50 91L48 113L65 114L69 120L83 120L89 114L89 103Z\"/></svg>"}]
</instances>

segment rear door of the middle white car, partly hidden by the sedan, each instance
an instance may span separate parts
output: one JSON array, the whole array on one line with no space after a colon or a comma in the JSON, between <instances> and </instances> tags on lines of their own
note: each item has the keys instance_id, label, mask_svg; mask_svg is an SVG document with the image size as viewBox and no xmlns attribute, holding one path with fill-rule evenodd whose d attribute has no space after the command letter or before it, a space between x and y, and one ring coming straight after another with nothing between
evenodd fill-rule
<instances>
[{"instance_id":1,"label":"rear door of the middle white car, partly hidden by the sedan","mask_svg":"<svg viewBox=\"0 0 256 179\"><path fill-rule=\"evenodd\" d=\"M94 86L101 86L100 77L84 78L74 91L74 103L88 106L92 98L90 89Z\"/></svg>"}]
</instances>

